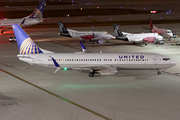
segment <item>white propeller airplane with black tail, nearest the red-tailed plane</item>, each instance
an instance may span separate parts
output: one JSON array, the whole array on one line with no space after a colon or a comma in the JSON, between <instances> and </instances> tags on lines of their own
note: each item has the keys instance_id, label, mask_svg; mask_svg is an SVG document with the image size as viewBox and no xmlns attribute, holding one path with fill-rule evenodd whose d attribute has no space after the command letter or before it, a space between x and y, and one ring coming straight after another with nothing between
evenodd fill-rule
<instances>
[{"instance_id":1,"label":"white propeller airplane with black tail, nearest the red-tailed plane","mask_svg":"<svg viewBox=\"0 0 180 120\"><path fill-rule=\"evenodd\" d=\"M139 34L132 34L127 32L121 32L119 27L116 24L113 24L114 33L116 39L130 41L135 43L145 42L147 45L148 42L156 42L156 43L164 43L164 39L162 36L158 35L158 33L139 33Z\"/></svg>"}]
</instances>

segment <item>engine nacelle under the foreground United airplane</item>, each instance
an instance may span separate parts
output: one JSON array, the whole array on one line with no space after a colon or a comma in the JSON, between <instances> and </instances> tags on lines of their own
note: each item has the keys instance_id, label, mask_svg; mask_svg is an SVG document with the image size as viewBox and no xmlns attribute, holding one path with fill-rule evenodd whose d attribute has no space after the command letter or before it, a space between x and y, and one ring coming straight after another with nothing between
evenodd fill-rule
<instances>
[{"instance_id":1,"label":"engine nacelle under the foreground United airplane","mask_svg":"<svg viewBox=\"0 0 180 120\"><path fill-rule=\"evenodd\" d=\"M117 75L118 73L116 68L104 68L98 72L100 75Z\"/></svg>"}]
</instances>

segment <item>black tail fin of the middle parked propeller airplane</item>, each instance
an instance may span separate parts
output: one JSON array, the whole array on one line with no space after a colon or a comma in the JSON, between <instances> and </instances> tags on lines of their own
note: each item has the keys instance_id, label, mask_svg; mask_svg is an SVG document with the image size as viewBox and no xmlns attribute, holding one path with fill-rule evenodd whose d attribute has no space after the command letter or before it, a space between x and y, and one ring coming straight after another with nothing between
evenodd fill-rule
<instances>
[{"instance_id":1,"label":"black tail fin of the middle parked propeller airplane","mask_svg":"<svg viewBox=\"0 0 180 120\"><path fill-rule=\"evenodd\" d=\"M128 38L125 35L123 35L123 33L121 32L121 30L116 24L113 24L113 28L114 28L116 39L128 41Z\"/></svg>"}]
</instances>

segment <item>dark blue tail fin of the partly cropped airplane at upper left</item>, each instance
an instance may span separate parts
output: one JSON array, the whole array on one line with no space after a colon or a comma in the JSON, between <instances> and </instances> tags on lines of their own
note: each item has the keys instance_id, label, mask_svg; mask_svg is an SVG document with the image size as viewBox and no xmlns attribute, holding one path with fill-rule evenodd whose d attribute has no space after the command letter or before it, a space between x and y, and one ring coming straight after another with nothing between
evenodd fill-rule
<instances>
[{"instance_id":1,"label":"dark blue tail fin of the partly cropped airplane at upper left","mask_svg":"<svg viewBox=\"0 0 180 120\"><path fill-rule=\"evenodd\" d=\"M46 0L43 0L37 8L33 11L33 13L29 16L29 18L43 18L44 5L46 5Z\"/></svg>"}]
</instances>

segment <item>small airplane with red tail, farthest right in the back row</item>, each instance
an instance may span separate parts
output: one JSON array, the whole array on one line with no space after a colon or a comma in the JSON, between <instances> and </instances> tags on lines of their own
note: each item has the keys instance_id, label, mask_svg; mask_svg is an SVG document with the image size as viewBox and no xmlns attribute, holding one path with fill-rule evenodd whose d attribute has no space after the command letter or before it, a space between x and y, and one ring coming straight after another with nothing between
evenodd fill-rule
<instances>
[{"instance_id":1,"label":"small airplane with red tail, farthest right in the back row","mask_svg":"<svg viewBox=\"0 0 180 120\"><path fill-rule=\"evenodd\" d=\"M162 28L157 28L153 25L151 18L149 18L150 21L150 31L152 33L158 33L159 35L163 36L163 37L167 37L169 40L171 38L175 38L177 37L175 32L172 32L171 30L167 30L167 29L162 29Z\"/></svg>"}]
</instances>

